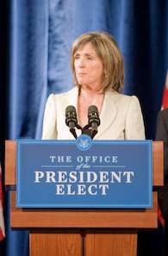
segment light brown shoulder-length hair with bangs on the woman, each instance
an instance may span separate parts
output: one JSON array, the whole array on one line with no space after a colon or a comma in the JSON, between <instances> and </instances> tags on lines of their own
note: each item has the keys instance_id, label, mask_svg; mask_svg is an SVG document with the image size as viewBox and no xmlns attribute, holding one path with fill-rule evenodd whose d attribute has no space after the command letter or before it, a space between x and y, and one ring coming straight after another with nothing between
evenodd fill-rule
<instances>
[{"instance_id":1,"label":"light brown shoulder-length hair with bangs on the woman","mask_svg":"<svg viewBox=\"0 0 168 256\"><path fill-rule=\"evenodd\" d=\"M75 75L74 55L79 48L84 47L89 42L96 50L97 56L99 56L103 62L103 90L112 88L115 91L121 91L124 83L123 59L115 39L106 32L90 32L82 34L73 42L71 65L74 84L79 85Z\"/></svg>"}]
</instances>

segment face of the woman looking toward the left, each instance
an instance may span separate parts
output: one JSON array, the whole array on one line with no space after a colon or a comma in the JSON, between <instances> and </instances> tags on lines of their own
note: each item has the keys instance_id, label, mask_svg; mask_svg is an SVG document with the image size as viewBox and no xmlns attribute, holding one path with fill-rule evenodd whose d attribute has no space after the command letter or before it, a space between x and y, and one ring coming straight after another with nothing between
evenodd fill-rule
<instances>
[{"instance_id":1,"label":"face of the woman looking toward the left","mask_svg":"<svg viewBox=\"0 0 168 256\"><path fill-rule=\"evenodd\" d=\"M87 43L74 54L75 74L82 87L99 90L103 85L103 62L91 43Z\"/></svg>"}]
</instances>

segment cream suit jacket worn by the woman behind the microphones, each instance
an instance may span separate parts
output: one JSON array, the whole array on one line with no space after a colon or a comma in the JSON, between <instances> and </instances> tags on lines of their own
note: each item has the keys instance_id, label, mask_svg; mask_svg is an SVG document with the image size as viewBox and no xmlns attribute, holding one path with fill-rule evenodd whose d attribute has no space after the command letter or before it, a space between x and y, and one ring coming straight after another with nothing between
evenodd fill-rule
<instances>
[{"instance_id":1,"label":"cream suit jacket worn by the woman behind the microphones","mask_svg":"<svg viewBox=\"0 0 168 256\"><path fill-rule=\"evenodd\" d=\"M78 109L78 87L48 97L43 120L43 140L74 140L65 125L65 108L68 105ZM106 91L100 121L94 140L145 140L144 122L137 97ZM77 134L81 132L77 130Z\"/></svg>"}]
</instances>

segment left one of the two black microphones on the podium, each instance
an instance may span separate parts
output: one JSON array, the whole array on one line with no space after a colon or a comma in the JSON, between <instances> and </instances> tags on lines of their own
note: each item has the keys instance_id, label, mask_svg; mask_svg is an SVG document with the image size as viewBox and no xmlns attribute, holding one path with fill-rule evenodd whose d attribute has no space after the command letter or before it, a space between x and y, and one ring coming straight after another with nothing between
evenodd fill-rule
<instances>
[{"instance_id":1,"label":"left one of the two black microphones on the podium","mask_svg":"<svg viewBox=\"0 0 168 256\"><path fill-rule=\"evenodd\" d=\"M74 106L67 106L65 109L65 124L70 128L71 133L77 139L75 127L78 125L77 111Z\"/></svg>"}]
</instances>

